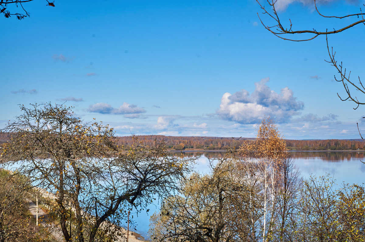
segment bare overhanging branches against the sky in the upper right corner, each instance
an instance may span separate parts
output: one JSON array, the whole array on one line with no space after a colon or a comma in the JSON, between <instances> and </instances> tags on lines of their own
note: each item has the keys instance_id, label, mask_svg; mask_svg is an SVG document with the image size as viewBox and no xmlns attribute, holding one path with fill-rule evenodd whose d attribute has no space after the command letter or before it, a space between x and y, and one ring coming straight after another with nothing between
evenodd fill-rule
<instances>
[{"instance_id":1,"label":"bare overhanging branches against the sky in the upper right corner","mask_svg":"<svg viewBox=\"0 0 365 242\"><path fill-rule=\"evenodd\" d=\"M353 81L353 80L350 79L351 71L347 71L347 73L346 73L346 68L343 67L342 62L340 64L340 63L337 62L337 60L335 60L335 53L336 52L333 51L333 47L331 47L331 48L329 47L328 39L327 39L328 35L332 35L332 34L335 34L335 33L345 31L349 28L353 28L354 26L356 26L358 24L364 24L365 25L365 19L364 19L365 13L362 13L361 8L360 8L359 12L352 13L352 14L349 14L349 15L327 16L327 15L322 14L319 11L318 6L316 4L316 0L313 0L315 10L316 10L316 12L318 13L319 16L321 16L323 18L326 18L326 19L342 20L344 22L344 25L342 27L338 28L338 29L334 29L333 27L327 27L326 29L317 30L313 27L308 27L306 29L295 30L293 28L293 23L292 23L291 19L289 19L289 24L287 26L285 26L285 24L283 24L283 21L280 19L278 11L276 9L277 0L266 0L266 4L268 4L268 7L265 7L265 4L261 3L259 0L256 0L256 1L260 5L260 7L263 11L262 15L268 16L268 22L270 22L269 25L264 23L264 20L262 20L262 17L260 16L260 14L257 13L258 17L260 18L260 21L261 21L262 25L268 31L270 31L272 34L274 34L275 36L277 36L277 37L279 37L283 40L309 41L309 40L315 39L316 37L318 37L320 35L325 35L326 36L326 42L327 42L328 56L330 58L326 62L330 63L331 66L335 67L336 71L339 73L339 78L337 78L336 76L334 76L334 78L337 82L342 83L343 88L346 91L345 97L341 97L337 93L338 97L342 101L350 100L350 101L354 102L355 104L357 104L357 106L354 109L357 109L359 107L359 105L365 104L365 101L361 100L361 99L364 99L363 97L359 100L359 98L351 92L351 87L352 87L360 95L365 94L365 87L363 86L363 84L360 80L360 76L358 76L358 83L357 83L357 81ZM349 22L350 22L350 24L348 24ZM331 29L331 30L329 31L328 29ZM296 39L293 36L299 36L299 38Z\"/></svg>"}]
</instances>

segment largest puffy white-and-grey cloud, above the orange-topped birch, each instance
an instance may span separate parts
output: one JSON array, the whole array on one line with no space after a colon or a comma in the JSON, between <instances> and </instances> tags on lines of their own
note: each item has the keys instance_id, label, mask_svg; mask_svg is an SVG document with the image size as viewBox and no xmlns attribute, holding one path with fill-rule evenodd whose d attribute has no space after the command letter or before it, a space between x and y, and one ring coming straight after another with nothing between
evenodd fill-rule
<instances>
[{"instance_id":1,"label":"largest puffy white-and-grey cloud, above the orange-topped birch","mask_svg":"<svg viewBox=\"0 0 365 242\"><path fill-rule=\"evenodd\" d=\"M216 114L222 119L242 124L258 123L265 115L284 123L300 114L304 103L296 100L293 91L285 87L278 94L266 85L268 81L269 78L265 78L256 82L252 94L244 89L234 94L226 92Z\"/></svg>"}]
</instances>

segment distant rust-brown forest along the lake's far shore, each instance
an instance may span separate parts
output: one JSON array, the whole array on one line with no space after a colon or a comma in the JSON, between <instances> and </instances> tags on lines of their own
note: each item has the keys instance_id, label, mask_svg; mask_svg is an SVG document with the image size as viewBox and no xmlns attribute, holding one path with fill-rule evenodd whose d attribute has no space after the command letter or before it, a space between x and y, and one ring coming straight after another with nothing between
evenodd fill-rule
<instances>
[{"instance_id":1,"label":"distant rust-brown forest along the lake's far shore","mask_svg":"<svg viewBox=\"0 0 365 242\"><path fill-rule=\"evenodd\" d=\"M0 133L0 144L10 140L10 133ZM207 137L207 136L164 136L136 135L145 146L153 146L155 140L165 140L166 146L175 150L201 149L226 150L229 147L239 147L255 138L238 137ZM133 144L133 136L117 136L118 145L125 149ZM363 150L365 143L361 139L323 139L323 140L285 140L288 150Z\"/></svg>"}]
</instances>

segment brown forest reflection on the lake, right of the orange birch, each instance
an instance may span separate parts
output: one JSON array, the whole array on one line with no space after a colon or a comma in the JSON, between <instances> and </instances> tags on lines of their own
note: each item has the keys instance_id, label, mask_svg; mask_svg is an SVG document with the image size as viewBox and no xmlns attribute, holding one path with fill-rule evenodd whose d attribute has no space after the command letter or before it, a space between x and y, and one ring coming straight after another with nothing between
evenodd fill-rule
<instances>
[{"instance_id":1,"label":"brown forest reflection on the lake, right of the orange birch","mask_svg":"<svg viewBox=\"0 0 365 242\"><path fill-rule=\"evenodd\" d=\"M351 159L363 159L364 151L293 151L289 152L292 159L320 158L325 161L350 161Z\"/></svg>"}]
</instances>

